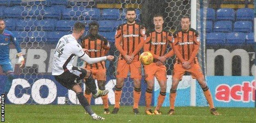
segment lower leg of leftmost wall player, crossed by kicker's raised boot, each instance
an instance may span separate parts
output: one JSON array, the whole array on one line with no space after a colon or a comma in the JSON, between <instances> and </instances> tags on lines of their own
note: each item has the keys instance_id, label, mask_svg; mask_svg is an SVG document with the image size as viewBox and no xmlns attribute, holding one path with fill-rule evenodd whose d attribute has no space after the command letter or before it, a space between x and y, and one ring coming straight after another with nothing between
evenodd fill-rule
<instances>
[{"instance_id":1,"label":"lower leg of leftmost wall player, crossed by kicker's raised boot","mask_svg":"<svg viewBox=\"0 0 256 123\"><path fill-rule=\"evenodd\" d=\"M106 81L104 80L98 80L98 88L101 91L105 90L105 83ZM108 105L108 95L102 96L101 99L103 101L104 114L110 114L109 105Z\"/></svg>"}]
</instances>

